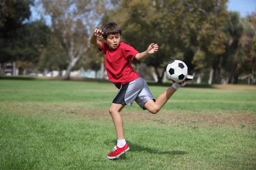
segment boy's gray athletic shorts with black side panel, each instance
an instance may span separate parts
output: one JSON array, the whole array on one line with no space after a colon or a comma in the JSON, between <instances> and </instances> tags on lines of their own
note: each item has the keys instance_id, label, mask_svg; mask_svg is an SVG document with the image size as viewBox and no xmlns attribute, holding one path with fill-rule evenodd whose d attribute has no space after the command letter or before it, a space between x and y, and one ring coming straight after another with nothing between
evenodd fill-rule
<instances>
[{"instance_id":1,"label":"boy's gray athletic shorts with black side panel","mask_svg":"<svg viewBox=\"0 0 256 170\"><path fill-rule=\"evenodd\" d=\"M113 103L131 106L135 101L143 110L146 110L144 108L145 102L150 99L156 101L149 91L148 84L140 77L132 82L121 85L121 88L113 99Z\"/></svg>"}]
</instances>

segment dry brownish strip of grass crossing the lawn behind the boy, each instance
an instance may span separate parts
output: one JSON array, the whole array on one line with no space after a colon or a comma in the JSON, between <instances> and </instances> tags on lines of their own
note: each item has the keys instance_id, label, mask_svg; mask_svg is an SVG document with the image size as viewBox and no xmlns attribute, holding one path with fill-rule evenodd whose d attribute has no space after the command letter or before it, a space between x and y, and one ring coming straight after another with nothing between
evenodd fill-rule
<instances>
[{"instance_id":1,"label":"dry brownish strip of grass crossing the lawn behind the boy","mask_svg":"<svg viewBox=\"0 0 256 170\"><path fill-rule=\"evenodd\" d=\"M106 102L105 102L106 103ZM0 109L8 109L11 113L26 115L42 115L50 118L85 119L86 121L112 122L108 110L88 108L90 102L83 103L15 103L0 106ZM256 115L248 113L173 113L159 112L151 114L148 111L121 112L123 121L131 124L151 124L164 126L243 126L256 127Z\"/></svg>"}]
</instances>

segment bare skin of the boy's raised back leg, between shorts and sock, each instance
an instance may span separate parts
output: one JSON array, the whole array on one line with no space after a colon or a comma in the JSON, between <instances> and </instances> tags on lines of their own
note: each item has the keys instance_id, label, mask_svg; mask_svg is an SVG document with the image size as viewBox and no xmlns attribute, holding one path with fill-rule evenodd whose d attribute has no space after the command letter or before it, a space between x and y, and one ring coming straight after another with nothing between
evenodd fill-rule
<instances>
[{"instance_id":1,"label":"bare skin of the boy's raised back leg, between shorts and sock","mask_svg":"<svg viewBox=\"0 0 256 170\"><path fill-rule=\"evenodd\" d=\"M150 112L150 113L157 113L160 111L160 109L163 107L164 104L170 99L170 97L177 91L172 86L169 87L166 91L164 91L160 96L157 97L156 102L154 100L148 100L148 102L145 103L144 107Z\"/></svg>"}]
</instances>

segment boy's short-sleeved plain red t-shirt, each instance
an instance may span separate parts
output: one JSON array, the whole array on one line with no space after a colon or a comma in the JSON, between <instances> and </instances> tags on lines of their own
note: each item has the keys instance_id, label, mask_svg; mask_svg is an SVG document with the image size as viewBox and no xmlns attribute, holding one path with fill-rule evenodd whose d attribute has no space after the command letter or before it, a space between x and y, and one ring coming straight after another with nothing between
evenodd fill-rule
<instances>
[{"instance_id":1,"label":"boy's short-sleeved plain red t-shirt","mask_svg":"<svg viewBox=\"0 0 256 170\"><path fill-rule=\"evenodd\" d=\"M131 61L138 51L124 42L120 42L116 49L109 48L106 42L101 43L102 49L99 51L106 54L105 67L108 78L117 88L140 77L131 66Z\"/></svg>"}]
</instances>

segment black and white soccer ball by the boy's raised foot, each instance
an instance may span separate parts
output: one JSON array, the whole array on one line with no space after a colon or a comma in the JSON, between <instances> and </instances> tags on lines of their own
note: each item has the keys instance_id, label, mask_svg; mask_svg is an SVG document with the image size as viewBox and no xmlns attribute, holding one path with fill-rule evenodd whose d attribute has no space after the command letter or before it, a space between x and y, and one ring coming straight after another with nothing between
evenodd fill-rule
<instances>
[{"instance_id":1,"label":"black and white soccer ball by the boy's raised foot","mask_svg":"<svg viewBox=\"0 0 256 170\"><path fill-rule=\"evenodd\" d=\"M173 60L166 67L166 75L175 82L182 82L188 75L188 67L183 61Z\"/></svg>"}]
</instances>

